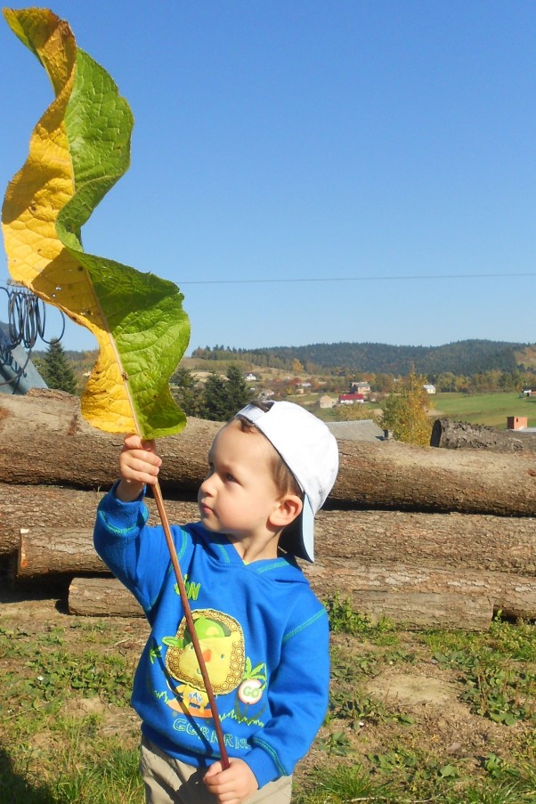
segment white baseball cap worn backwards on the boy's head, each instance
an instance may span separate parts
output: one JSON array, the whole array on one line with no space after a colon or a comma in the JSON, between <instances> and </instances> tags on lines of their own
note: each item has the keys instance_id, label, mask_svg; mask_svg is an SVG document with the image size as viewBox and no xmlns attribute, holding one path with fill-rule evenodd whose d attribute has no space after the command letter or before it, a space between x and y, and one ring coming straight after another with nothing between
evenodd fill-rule
<instances>
[{"instance_id":1,"label":"white baseball cap worn backwards on the boy's head","mask_svg":"<svg viewBox=\"0 0 536 804\"><path fill-rule=\"evenodd\" d=\"M314 515L335 483L338 449L335 436L320 418L294 402L246 405L238 417L247 418L280 454L304 492L300 516L282 533L281 547L314 561Z\"/></svg>"}]
</instances>

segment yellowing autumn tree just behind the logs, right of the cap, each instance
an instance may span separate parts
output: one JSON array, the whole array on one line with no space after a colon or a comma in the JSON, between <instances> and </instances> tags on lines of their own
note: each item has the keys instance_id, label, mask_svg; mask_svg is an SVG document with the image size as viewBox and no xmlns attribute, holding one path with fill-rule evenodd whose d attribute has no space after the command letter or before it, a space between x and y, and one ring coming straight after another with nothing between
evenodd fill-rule
<instances>
[{"instance_id":1,"label":"yellowing autumn tree just behind the logs, right of the cap","mask_svg":"<svg viewBox=\"0 0 536 804\"><path fill-rule=\"evenodd\" d=\"M398 441L421 446L430 443L432 421L427 414L433 406L423 388L425 384L426 378L418 375L412 367L399 391L386 399L381 425L393 430Z\"/></svg>"}]
</instances>

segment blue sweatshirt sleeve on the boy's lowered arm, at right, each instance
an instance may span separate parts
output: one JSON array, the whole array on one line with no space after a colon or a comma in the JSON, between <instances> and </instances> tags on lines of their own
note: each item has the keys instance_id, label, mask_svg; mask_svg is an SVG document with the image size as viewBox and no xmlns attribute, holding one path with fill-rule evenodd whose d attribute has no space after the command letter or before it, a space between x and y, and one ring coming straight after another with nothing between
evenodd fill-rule
<instances>
[{"instance_id":1,"label":"blue sweatshirt sleeve on the boy's lowered arm, at right","mask_svg":"<svg viewBox=\"0 0 536 804\"><path fill-rule=\"evenodd\" d=\"M252 738L244 759L259 787L290 776L309 751L329 700L329 621L319 610L284 639L281 662L270 685L272 719Z\"/></svg>"}]
</instances>

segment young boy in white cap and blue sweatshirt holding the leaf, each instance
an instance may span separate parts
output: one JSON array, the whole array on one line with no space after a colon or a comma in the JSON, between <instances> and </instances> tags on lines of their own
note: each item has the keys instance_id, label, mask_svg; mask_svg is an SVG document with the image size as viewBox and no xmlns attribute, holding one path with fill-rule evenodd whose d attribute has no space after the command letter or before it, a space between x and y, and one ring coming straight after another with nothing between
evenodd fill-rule
<instances>
[{"instance_id":1,"label":"young boy in white cap and blue sweatshirt holding the leaf","mask_svg":"<svg viewBox=\"0 0 536 804\"><path fill-rule=\"evenodd\" d=\"M285 804L328 703L328 617L294 556L313 561L313 518L335 483L337 442L291 402L247 405L212 443L200 521L172 527L226 769L165 535L146 524L143 491L160 464L152 443L126 437L94 534L151 626L132 697L146 800Z\"/></svg>"}]
</instances>

